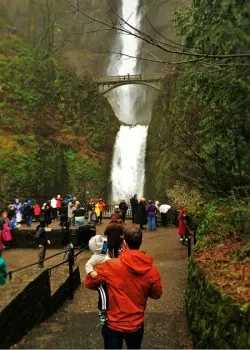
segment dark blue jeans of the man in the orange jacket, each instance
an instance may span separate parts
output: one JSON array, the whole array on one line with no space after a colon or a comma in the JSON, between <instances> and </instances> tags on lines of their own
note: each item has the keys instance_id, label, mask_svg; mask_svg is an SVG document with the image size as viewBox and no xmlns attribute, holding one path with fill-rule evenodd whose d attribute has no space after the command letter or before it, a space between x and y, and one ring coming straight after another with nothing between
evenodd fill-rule
<instances>
[{"instance_id":1,"label":"dark blue jeans of the man in the orange jacket","mask_svg":"<svg viewBox=\"0 0 250 350\"><path fill-rule=\"evenodd\" d=\"M118 332L107 326L102 327L105 349L122 349L123 339L128 349L140 349L143 338L144 325L133 333Z\"/></svg>"}]
</instances>

